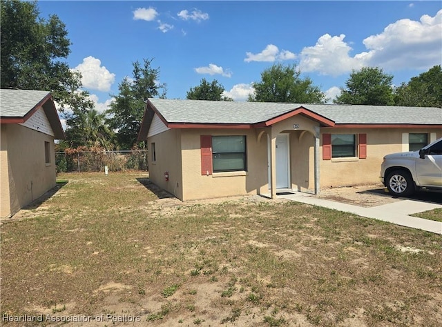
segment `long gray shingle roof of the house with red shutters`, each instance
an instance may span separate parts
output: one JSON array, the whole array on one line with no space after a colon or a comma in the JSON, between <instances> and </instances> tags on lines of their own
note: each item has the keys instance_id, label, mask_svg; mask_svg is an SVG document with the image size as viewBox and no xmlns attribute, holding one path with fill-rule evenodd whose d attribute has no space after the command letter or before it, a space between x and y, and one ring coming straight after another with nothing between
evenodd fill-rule
<instances>
[{"instance_id":1,"label":"long gray shingle roof of the house with red shutters","mask_svg":"<svg viewBox=\"0 0 442 327\"><path fill-rule=\"evenodd\" d=\"M148 99L169 123L260 123L302 106L335 123L442 124L441 108Z\"/></svg>"}]
</instances>

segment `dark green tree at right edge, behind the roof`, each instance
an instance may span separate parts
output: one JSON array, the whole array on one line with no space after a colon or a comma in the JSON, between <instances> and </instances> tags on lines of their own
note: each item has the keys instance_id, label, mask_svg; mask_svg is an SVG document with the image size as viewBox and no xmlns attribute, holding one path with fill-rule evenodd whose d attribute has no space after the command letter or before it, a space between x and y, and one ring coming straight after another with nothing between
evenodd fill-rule
<instances>
[{"instance_id":1,"label":"dark green tree at right edge, behind the roof","mask_svg":"<svg viewBox=\"0 0 442 327\"><path fill-rule=\"evenodd\" d=\"M396 106L442 108L442 69L433 66L394 90Z\"/></svg>"}]
</instances>

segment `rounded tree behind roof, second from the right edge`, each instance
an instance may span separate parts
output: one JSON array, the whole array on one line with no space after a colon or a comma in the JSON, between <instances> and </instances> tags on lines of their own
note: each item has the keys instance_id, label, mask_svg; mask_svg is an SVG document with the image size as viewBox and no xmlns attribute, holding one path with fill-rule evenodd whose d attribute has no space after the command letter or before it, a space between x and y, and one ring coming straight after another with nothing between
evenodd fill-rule
<instances>
[{"instance_id":1,"label":"rounded tree behind roof, second from the right edge","mask_svg":"<svg viewBox=\"0 0 442 327\"><path fill-rule=\"evenodd\" d=\"M334 103L391 106L394 104L392 80L393 75L378 67L353 70L345 82L347 88L340 88L341 94Z\"/></svg>"}]
</instances>

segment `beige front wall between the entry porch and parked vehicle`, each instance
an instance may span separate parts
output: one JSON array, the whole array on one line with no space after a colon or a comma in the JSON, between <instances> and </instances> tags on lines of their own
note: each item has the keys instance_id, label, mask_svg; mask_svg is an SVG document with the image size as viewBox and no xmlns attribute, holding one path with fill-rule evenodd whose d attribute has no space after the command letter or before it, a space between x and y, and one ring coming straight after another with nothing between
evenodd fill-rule
<instances>
[{"instance_id":1,"label":"beige front wall between the entry porch and parked vehicle","mask_svg":"<svg viewBox=\"0 0 442 327\"><path fill-rule=\"evenodd\" d=\"M403 133L436 132L436 139L442 131L429 128L323 128L320 139L320 187L354 186L380 183L383 157L394 152L403 152ZM322 159L323 133L367 134L366 159ZM310 186L311 187L311 186Z\"/></svg>"}]
</instances>

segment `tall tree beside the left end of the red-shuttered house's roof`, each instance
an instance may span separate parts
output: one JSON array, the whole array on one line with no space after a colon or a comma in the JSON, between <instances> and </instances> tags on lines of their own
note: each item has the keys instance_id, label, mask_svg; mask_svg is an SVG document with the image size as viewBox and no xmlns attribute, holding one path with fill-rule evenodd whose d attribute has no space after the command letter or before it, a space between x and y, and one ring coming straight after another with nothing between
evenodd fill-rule
<instances>
[{"instance_id":1,"label":"tall tree beside the left end of the red-shuttered house's roof","mask_svg":"<svg viewBox=\"0 0 442 327\"><path fill-rule=\"evenodd\" d=\"M119 83L119 94L113 95L111 108L106 112L111 115L108 123L116 130L119 148L131 149L135 145L147 99L166 97L166 84L157 82L160 69L152 68L152 61L143 59L143 65L138 61L133 63L133 79L126 77Z\"/></svg>"}]
</instances>

